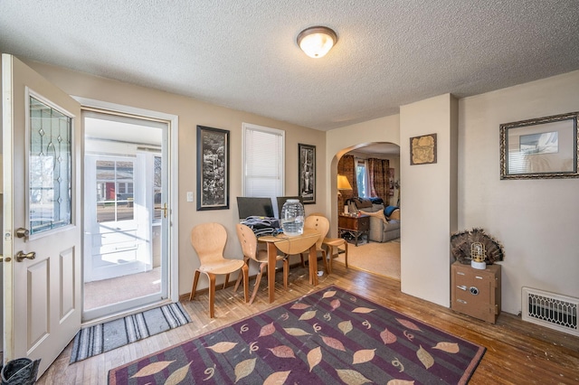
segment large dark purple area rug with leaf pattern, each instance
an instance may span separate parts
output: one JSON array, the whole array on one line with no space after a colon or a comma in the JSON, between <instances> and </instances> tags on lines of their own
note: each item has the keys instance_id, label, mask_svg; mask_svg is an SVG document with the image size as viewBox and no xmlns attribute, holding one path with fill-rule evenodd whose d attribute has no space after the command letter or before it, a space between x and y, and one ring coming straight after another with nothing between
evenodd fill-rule
<instances>
[{"instance_id":1,"label":"large dark purple area rug with leaf pattern","mask_svg":"<svg viewBox=\"0 0 579 385\"><path fill-rule=\"evenodd\" d=\"M109 384L464 384L484 352L329 286L112 369Z\"/></svg>"}]
</instances>

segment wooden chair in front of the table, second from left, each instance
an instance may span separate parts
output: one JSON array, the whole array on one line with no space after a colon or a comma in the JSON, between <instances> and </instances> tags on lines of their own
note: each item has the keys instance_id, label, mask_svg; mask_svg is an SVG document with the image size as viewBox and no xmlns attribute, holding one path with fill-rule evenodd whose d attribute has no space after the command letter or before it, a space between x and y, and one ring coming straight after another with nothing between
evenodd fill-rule
<instances>
[{"instance_id":1,"label":"wooden chair in front of the table, second from left","mask_svg":"<svg viewBox=\"0 0 579 385\"><path fill-rule=\"evenodd\" d=\"M242 245L243 251L243 260L245 264L249 267L250 260L254 260L260 266L260 272L258 276L255 278L255 284L253 288L252 297L250 298L250 305L252 305L255 296L257 295L257 291L260 288L261 277L263 276L263 272L267 271L268 268L268 252L265 249L258 249L257 248L257 237L253 230L250 229L248 226L238 223L235 225L237 230L237 238L239 239L240 244ZM289 276L289 258L286 256L278 255L276 257L276 261L283 261L283 287L285 289L288 288L288 276ZM237 287L239 286L241 281L241 276L237 277L237 282L235 283L235 291L237 291Z\"/></svg>"}]
</instances>

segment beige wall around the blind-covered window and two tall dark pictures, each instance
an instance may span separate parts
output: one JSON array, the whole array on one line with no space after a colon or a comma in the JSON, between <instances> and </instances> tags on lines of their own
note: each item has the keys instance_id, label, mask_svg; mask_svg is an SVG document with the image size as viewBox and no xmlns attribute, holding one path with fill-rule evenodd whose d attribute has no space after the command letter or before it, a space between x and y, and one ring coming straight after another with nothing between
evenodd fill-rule
<instances>
[{"instance_id":1,"label":"beige wall around the blind-covered window and two tall dark pictures","mask_svg":"<svg viewBox=\"0 0 579 385\"><path fill-rule=\"evenodd\" d=\"M40 72L70 95L98 99L135 108L146 108L174 114L179 117L179 294L191 291L193 274L198 267L194 250L189 243L189 231L199 223L217 221L222 223L229 235L225 255L242 258L241 248L235 235L237 218L236 197L242 194L242 123L278 128L286 131L286 194L298 193L298 143L316 146L317 149L317 203L306 206L306 213L323 211L326 207L326 184L324 160L326 159L326 133L305 127L290 125L267 117L245 113L230 108L222 108L176 94L148 89L92 77L83 73L64 70L47 64L26 61L26 64ZM231 131L230 148L230 210L196 211L195 202L186 202L186 192L196 194L196 126L207 126ZM195 196L196 199L196 196ZM205 278L199 288L207 286Z\"/></svg>"}]
</instances>

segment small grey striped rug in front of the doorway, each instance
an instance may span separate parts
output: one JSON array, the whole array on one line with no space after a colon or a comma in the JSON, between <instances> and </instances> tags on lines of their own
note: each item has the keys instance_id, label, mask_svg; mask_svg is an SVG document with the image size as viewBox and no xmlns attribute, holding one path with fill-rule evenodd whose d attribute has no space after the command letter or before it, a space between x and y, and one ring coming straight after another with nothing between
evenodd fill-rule
<instances>
[{"instance_id":1,"label":"small grey striped rug in front of the doorway","mask_svg":"<svg viewBox=\"0 0 579 385\"><path fill-rule=\"evenodd\" d=\"M74 337L71 363L190 322L191 317L177 302L81 329Z\"/></svg>"}]
</instances>

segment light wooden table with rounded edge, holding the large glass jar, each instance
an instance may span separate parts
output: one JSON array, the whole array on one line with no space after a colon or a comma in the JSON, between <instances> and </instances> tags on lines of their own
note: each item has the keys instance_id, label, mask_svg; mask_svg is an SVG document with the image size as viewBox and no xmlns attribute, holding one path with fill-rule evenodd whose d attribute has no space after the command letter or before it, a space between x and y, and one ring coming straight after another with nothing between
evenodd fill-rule
<instances>
[{"instance_id":1,"label":"light wooden table with rounded edge, holding the large glass jar","mask_svg":"<svg viewBox=\"0 0 579 385\"><path fill-rule=\"evenodd\" d=\"M266 242L268 246L268 291L270 303L275 300L275 265L278 250L287 255L301 254L309 249L309 284L318 285L318 253L316 251L316 241L319 232L316 230L304 229L301 235L266 235L258 238L260 242Z\"/></svg>"}]
</instances>

